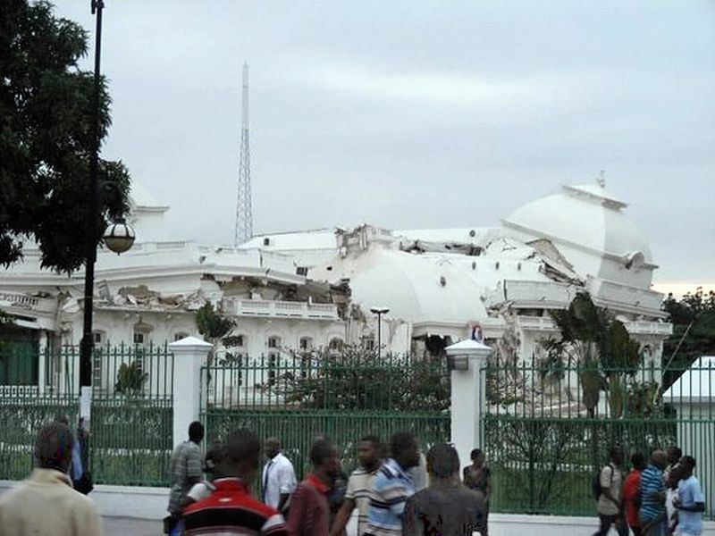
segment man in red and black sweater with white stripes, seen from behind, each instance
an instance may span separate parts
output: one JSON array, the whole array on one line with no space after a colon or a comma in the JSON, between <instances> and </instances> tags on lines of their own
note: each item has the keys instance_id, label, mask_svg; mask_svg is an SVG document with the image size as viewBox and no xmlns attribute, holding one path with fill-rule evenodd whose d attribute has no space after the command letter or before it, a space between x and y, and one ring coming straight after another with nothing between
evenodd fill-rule
<instances>
[{"instance_id":1,"label":"man in red and black sweater with white stripes, seen from behind","mask_svg":"<svg viewBox=\"0 0 715 536\"><path fill-rule=\"evenodd\" d=\"M256 474L260 456L255 433L239 430L229 435L225 458L214 467L215 491L184 510L185 534L287 536L282 515L248 490L246 482Z\"/></svg>"}]
</instances>

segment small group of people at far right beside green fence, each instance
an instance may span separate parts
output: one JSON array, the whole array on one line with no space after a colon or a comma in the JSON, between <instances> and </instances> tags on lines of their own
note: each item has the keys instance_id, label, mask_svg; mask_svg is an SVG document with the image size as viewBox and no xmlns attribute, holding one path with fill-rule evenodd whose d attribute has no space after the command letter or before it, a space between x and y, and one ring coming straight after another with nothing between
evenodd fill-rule
<instances>
[{"instance_id":1,"label":"small group of people at far right beside green fence","mask_svg":"<svg viewBox=\"0 0 715 536\"><path fill-rule=\"evenodd\" d=\"M680 448L654 450L650 463L636 452L624 478L624 452L610 449L610 461L597 480L600 527L594 536L615 527L618 536L700 536L705 498L693 472L695 459Z\"/></svg>"}]
</instances>

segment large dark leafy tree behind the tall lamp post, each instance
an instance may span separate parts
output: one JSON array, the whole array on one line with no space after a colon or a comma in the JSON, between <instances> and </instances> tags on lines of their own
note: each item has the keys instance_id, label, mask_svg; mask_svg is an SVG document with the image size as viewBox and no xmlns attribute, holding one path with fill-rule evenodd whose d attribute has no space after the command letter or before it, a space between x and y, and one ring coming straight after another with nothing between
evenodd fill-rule
<instances>
[{"instance_id":1,"label":"large dark leafy tree behind the tall lamp post","mask_svg":"<svg viewBox=\"0 0 715 536\"><path fill-rule=\"evenodd\" d=\"M88 239L99 244L108 219L129 210L130 177L121 162L98 166L98 225L88 225L93 150L93 74L80 70L88 34L57 18L44 0L0 2L0 264L21 260L34 239L43 267L72 272ZM110 125L103 79L99 136Z\"/></svg>"}]
</instances>

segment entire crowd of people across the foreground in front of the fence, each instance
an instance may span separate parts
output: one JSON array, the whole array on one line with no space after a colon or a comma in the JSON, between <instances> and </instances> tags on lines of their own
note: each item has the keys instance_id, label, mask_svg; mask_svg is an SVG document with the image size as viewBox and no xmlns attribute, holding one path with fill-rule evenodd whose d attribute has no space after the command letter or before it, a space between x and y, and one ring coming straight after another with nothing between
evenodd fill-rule
<instances>
[{"instance_id":1,"label":"entire crowd of people across the foreground in front of the fence","mask_svg":"<svg viewBox=\"0 0 715 536\"><path fill-rule=\"evenodd\" d=\"M203 440L203 425L191 423L188 440L172 453L167 534L346 536L357 510L358 536L488 536L491 473L478 448L460 473L449 444L423 454L412 433L395 433L388 444L367 435L357 443L359 465L348 476L332 441L318 437L309 452L311 470L298 482L276 438L262 442L253 431L233 431L206 456ZM0 536L101 534L97 508L72 482L83 474L78 448L66 418L39 431L36 468L0 498ZM671 447L653 451L646 463L635 453L627 474L624 458L622 448L611 448L594 481L600 520L594 536L611 527L619 536L701 536L705 498L694 457ZM259 495L250 489L256 478Z\"/></svg>"}]
</instances>

